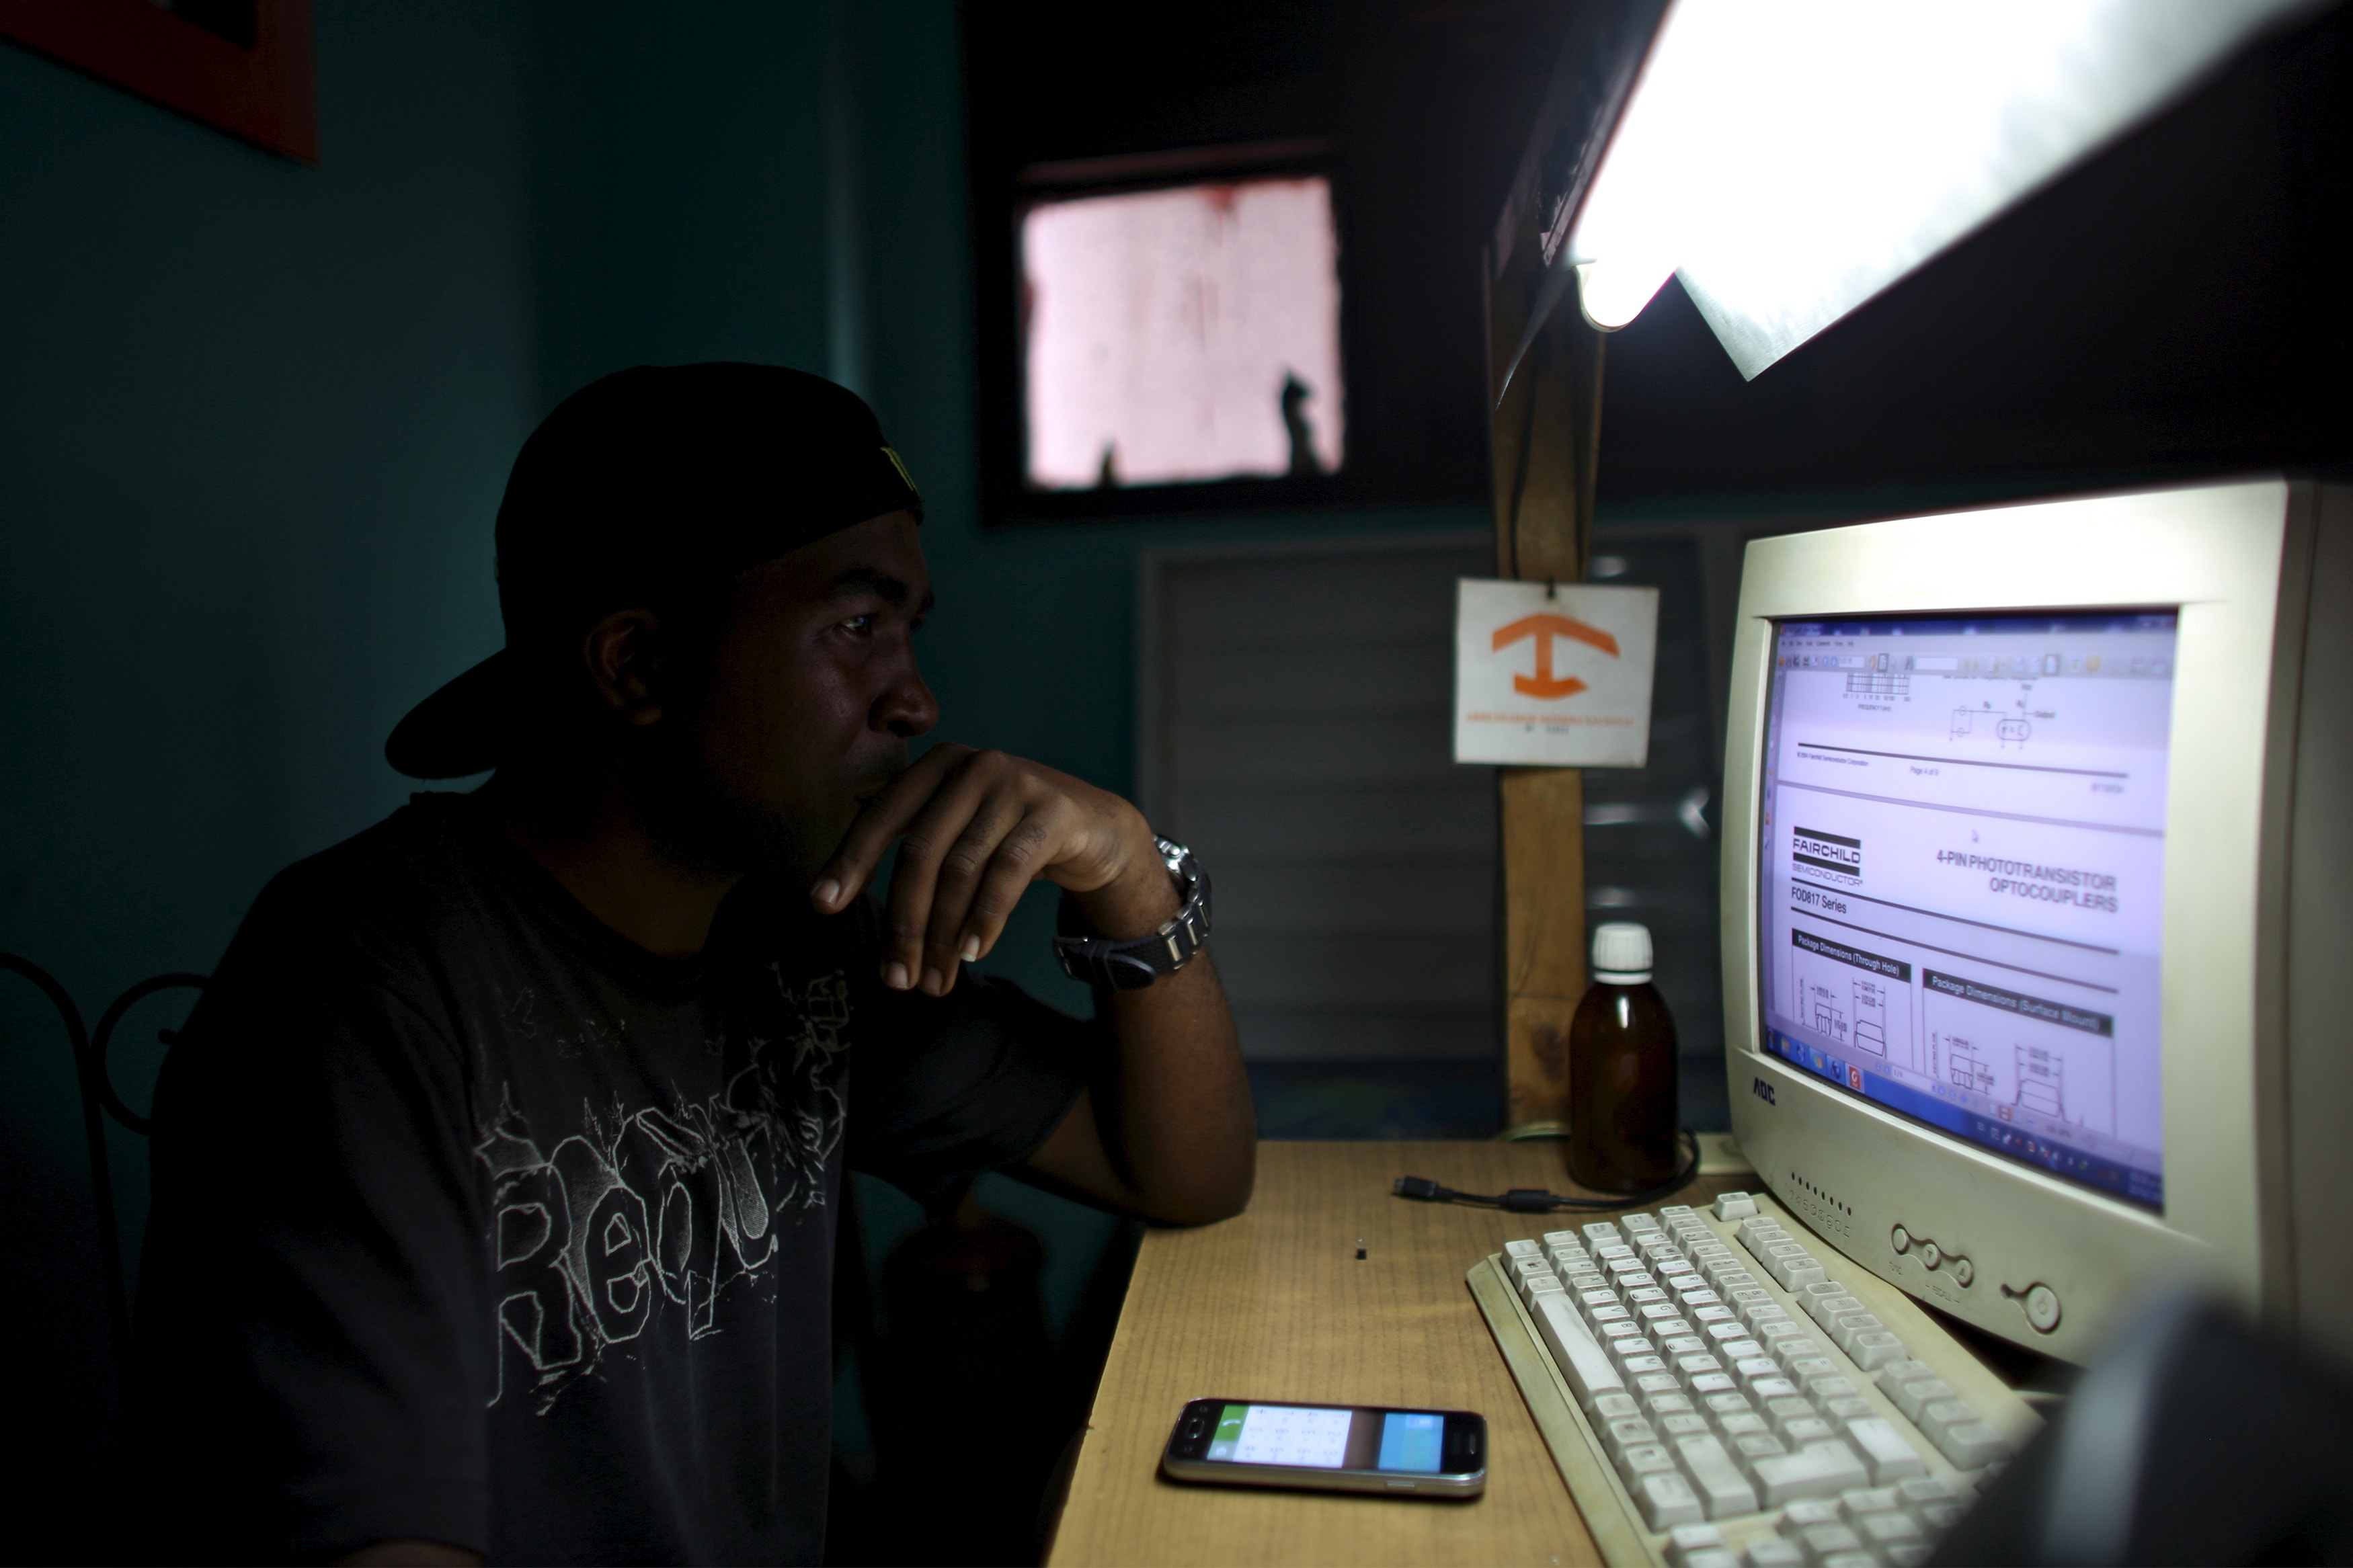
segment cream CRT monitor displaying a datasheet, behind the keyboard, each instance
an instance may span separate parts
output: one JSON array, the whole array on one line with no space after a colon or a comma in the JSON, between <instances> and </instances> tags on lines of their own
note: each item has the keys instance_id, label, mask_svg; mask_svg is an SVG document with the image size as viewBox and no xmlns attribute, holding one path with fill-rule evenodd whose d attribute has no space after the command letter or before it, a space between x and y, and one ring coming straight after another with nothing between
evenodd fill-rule
<instances>
[{"instance_id":1,"label":"cream CRT monitor displaying a datasheet, behind the keyboard","mask_svg":"<svg viewBox=\"0 0 2353 1568\"><path fill-rule=\"evenodd\" d=\"M2155 1276L2353 1345L2353 494L1748 545L1734 1133L1826 1241L2082 1359Z\"/></svg>"}]
</instances>

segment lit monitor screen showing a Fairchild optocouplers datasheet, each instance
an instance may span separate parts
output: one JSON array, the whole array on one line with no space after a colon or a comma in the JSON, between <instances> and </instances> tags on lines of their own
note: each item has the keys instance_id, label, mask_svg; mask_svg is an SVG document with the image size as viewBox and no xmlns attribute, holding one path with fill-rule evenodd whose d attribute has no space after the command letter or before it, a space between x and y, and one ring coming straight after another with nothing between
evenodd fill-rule
<instances>
[{"instance_id":1,"label":"lit monitor screen showing a Fairchild optocouplers datasheet","mask_svg":"<svg viewBox=\"0 0 2353 1568\"><path fill-rule=\"evenodd\" d=\"M2162 1206L2172 611L1781 621L1765 1048Z\"/></svg>"}]
</instances>

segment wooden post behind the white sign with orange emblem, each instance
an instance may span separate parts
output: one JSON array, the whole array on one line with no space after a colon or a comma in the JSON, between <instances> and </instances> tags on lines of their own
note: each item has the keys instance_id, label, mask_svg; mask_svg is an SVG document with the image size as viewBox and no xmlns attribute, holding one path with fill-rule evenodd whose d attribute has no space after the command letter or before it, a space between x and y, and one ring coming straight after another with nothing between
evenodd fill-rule
<instances>
[{"instance_id":1,"label":"wooden post behind the white sign with orange emblem","mask_svg":"<svg viewBox=\"0 0 2353 1568\"><path fill-rule=\"evenodd\" d=\"M1544 284L1534 226L1489 270L1497 576L1577 583L1593 538L1602 334L1574 294L1513 355ZM1511 383L1501 386L1506 371ZM1577 769L1499 769L1506 1138L1565 1133L1569 1016L1586 994L1586 792Z\"/></svg>"}]
</instances>

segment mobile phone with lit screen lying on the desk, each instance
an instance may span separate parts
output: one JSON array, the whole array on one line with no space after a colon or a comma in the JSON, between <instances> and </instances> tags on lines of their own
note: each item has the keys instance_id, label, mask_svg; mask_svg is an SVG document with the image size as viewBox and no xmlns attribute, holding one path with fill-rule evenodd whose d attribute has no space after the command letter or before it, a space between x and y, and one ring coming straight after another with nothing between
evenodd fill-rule
<instances>
[{"instance_id":1,"label":"mobile phone with lit screen lying on the desk","mask_svg":"<svg viewBox=\"0 0 2353 1568\"><path fill-rule=\"evenodd\" d=\"M1487 1418L1471 1410L1186 1401L1160 1472L1172 1481L1306 1486L1398 1497L1487 1490Z\"/></svg>"}]
</instances>

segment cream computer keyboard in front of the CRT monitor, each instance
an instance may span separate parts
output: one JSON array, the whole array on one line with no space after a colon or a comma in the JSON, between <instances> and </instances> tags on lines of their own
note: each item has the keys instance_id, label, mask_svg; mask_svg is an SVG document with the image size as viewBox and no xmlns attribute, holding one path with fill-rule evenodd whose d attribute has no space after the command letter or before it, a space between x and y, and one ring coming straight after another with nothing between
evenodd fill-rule
<instances>
[{"instance_id":1,"label":"cream computer keyboard in front of the CRT monitor","mask_svg":"<svg viewBox=\"0 0 2353 1568\"><path fill-rule=\"evenodd\" d=\"M1762 1194L1508 1241L1471 1293L1612 1568L1911 1568L2042 1425Z\"/></svg>"}]
</instances>

